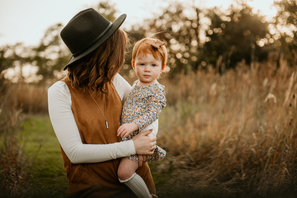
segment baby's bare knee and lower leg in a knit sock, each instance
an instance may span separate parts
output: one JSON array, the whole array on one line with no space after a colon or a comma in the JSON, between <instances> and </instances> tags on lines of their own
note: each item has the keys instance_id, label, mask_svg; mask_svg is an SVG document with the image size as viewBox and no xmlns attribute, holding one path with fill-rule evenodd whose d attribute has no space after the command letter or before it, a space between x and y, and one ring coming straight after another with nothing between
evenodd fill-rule
<instances>
[{"instance_id":1,"label":"baby's bare knee and lower leg in a knit sock","mask_svg":"<svg viewBox=\"0 0 297 198\"><path fill-rule=\"evenodd\" d=\"M118 177L139 198L152 197L143 179L135 173L138 169L138 162L123 157L121 159Z\"/></svg>"}]
</instances>

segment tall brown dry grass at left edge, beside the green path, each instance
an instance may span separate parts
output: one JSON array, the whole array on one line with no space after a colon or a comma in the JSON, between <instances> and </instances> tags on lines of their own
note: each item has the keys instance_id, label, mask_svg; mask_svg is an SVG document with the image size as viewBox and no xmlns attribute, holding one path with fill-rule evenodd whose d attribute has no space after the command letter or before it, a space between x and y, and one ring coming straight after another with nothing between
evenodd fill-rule
<instances>
[{"instance_id":1,"label":"tall brown dry grass at left edge, beside the green path","mask_svg":"<svg viewBox=\"0 0 297 198\"><path fill-rule=\"evenodd\" d=\"M26 106L19 97L23 94L29 101L33 100L33 95L28 90L20 89L24 84L12 84L1 77L0 75L0 197L27 197L30 190L27 181L37 154L29 159L24 157L19 132L22 130L20 122L24 119L22 113Z\"/></svg>"}]
</instances>

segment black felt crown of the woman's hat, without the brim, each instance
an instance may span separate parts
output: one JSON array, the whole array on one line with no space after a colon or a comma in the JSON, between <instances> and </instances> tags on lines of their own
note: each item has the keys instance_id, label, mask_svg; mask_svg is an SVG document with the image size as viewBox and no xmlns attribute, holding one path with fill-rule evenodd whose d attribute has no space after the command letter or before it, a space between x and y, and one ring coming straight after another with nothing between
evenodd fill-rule
<instances>
[{"instance_id":1,"label":"black felt crown of the woman's hat, without the brim","mask_svg":"<svg viewBox=\"0 0 297 198\"><path fill-rule=\"evenodd\" d=\"M78 56L110 26L104 16L93 8L75 15L61 31L61 38L73 56Z\"/></svg>"}]
</instances>

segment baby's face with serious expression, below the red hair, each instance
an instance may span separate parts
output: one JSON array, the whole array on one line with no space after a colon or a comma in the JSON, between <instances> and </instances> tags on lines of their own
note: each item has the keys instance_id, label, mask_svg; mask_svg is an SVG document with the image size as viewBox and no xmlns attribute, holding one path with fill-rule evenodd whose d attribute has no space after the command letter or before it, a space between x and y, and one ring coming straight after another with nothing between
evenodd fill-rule
<instances>
[{"instance_id":1,"label":"baby's face with serious expression, below the red hair","mask_svg":"<svg viewBox=\"0 0 297 198\"><path fill-rule=\"evenodd\" d=\"M152 54L139 54L132 66L139 81L143 83L157 83L156 79L162 72L162 60L155 59Z\"/></svg>"}]
</instances>

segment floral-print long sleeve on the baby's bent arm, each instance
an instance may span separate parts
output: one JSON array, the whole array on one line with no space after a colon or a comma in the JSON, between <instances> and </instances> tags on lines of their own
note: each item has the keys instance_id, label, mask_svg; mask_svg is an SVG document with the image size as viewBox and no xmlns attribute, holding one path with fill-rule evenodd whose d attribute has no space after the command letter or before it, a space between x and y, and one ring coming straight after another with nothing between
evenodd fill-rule
<instances>
[{"instance_id":1,"label":"floral-print long sleeve on the baby's bent arm","mask_svg":"<svg viewBox=\"0 0 297 198\"><path fill-rule=\"evenodd\" d=\"M133 120L134 123L142 131L146 126L149 126L159 117L161 110L166 106L166 98L164 87L157 87L151 90L150 96L147 98L148 107L143 112L142 116Z\"/></svg>"}]
</instances>

